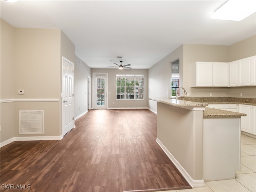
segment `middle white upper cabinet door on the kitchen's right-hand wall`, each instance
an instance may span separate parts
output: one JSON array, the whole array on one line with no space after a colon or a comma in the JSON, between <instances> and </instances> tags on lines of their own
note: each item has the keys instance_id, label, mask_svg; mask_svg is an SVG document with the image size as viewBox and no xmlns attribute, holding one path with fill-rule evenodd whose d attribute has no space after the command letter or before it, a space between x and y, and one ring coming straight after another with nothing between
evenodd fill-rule
<instances>
[{"instance_id":1,"label":"middle white upper cabinet door on the kitchen's right-hand wall","mask_svg":"<svg viewBox=\"0 0 256 192\"><path fill-rule=\"evenodd\" d=\"M252 57L241 59L238 62L239 85L252 85Z\"/></svg>"}]
</instances>

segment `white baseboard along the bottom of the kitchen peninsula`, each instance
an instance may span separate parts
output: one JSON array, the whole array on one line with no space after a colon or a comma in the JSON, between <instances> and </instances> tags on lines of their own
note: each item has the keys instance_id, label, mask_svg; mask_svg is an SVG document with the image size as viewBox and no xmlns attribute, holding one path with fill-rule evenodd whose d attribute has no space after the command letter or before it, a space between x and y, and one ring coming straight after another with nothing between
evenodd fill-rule
<instances>
[{"instance_id":1,"label":"white baseboard along the bottom of the kitchen peninsula","mask_svg":"<svg viewBox=\"0 0 256 192\"><path fill-rule=\"evenodd\" d=\"M193 180L192 177L186 172L186 170L181 166L181 164L174 158L174 156L166 149L166 147L162 144L162 142L156 138L156 142L158 145L162 148L162 150L165 152L165 154L168 156L168 158L172 161L172 163L176 166L176 168L180 171L182 176L186 179L188 184L191 187L204 187L204 180Z\"/></svg>"}]
</instances>

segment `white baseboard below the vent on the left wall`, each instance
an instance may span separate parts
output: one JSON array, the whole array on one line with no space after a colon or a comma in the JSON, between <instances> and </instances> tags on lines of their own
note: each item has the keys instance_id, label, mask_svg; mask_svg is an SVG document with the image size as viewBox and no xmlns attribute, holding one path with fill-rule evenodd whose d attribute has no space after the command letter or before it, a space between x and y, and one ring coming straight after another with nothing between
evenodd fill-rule
<instances>
[{"instance_id":1,"label":"white baseboard below the vent on the left wall","mask_svg":"<svg viewBox=\"0 0 256 192\"><path fill-rule=\"evenodd\" d=\"M62 140L63 136L36 136L36 137L13 137L0 143L0 148L14 141L43 141L43 140Z\"/></svg>"}]
</instances>

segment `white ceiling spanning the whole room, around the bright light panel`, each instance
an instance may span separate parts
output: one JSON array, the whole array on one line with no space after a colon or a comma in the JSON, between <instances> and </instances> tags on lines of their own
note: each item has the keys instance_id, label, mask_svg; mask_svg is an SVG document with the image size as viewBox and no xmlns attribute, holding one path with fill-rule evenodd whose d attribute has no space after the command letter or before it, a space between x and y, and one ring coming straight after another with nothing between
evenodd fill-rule
<instances>
[{"instance_id":1,"label":"white ceiling spanning the whole room, around the bright light panel","mask_svg":"<svg viewBox=\"0 0 256 192\"><path fill-rule=\"evenodd\" d=\"M256 34L255 13L213 20L224 0L1 0L1 18L14 27L58 28L91 68L119 63L148 69L182 44L231 45Z\"/></svg>"}]
</instances>

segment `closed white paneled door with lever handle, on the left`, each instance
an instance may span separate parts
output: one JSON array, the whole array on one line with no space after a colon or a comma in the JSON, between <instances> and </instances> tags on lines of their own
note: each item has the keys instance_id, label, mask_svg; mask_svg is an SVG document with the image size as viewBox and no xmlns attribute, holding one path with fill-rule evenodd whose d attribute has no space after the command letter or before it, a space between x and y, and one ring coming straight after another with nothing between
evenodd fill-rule
<instances>
[{"instance_id":1,"label":"closed white paneled door with lever handle, on the left","mask_svg":"<svg viewBox=\"0 0 256 192\"><path fill-rule=\"evenodd\" d=\"M74 128L74 63L62 58L62 135Z\"/></svg>"}]
</instances>

